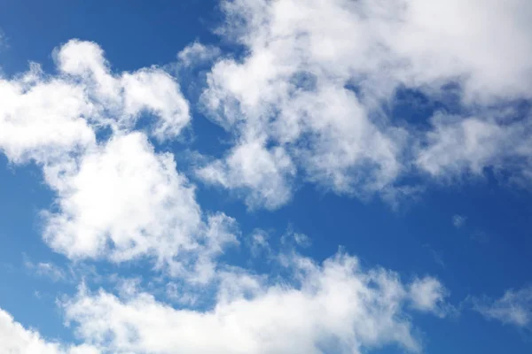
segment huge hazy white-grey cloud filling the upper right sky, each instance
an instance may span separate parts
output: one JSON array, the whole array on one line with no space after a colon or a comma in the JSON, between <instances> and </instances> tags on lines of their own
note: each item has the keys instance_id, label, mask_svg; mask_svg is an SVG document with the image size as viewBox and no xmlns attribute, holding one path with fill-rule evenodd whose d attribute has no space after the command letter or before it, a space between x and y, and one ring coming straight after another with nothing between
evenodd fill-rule
<instances>
[{"instance_id":1,"label":"huge hazy white-grey cloud filling the upper right sky","mask_svg":"<svg viewBox=\"0 0 532 354\"><path fill-rule=\"evenodd\" d=\"M530 98L528 1L222 4L227 21L219 33L246 54L219 60L207 78L202 103L236 145L200 169L206 181L274 209L289 200L296 169L307 181L363 197L409 190L397 183L412 170L438 178L491 166L513 171L515 159L517 179L529 180L528 117L489 112ZM444 99L453 85L462 105L481 107L478 117L442 112L419 132L387 115L397 89ZM523 143L505 150L516 139ZM268 168L236 158L254 156L256 146L261 156L280 150L286 158L270 158Z\"/></svg>"}]
</instances>

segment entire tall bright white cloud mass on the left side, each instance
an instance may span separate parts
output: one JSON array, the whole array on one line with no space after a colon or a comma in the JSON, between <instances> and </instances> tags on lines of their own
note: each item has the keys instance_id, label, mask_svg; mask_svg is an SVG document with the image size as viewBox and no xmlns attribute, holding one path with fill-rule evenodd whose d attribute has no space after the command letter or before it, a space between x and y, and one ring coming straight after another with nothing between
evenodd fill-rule
<instances>
[{"instance_id":1,"label":"entire tall bright white cloud mass on the left side","mask_svg":"<svg viewBox=\"0 0 532 354\"><path fill-rule=\"evenodd\" d=\"M156 67L114 74L93 42L67 42L54 58L55 76L31 65L0 81L0 149L15 163L41 165L57 193L43 212L44 240L68 258L150 257L174 275L207 281L213 258L237 243L236 222L202 212L173 155L132 131L150 112L147 134L179 134L190 116L176 81Z\"/></svg>"}]
</instances>

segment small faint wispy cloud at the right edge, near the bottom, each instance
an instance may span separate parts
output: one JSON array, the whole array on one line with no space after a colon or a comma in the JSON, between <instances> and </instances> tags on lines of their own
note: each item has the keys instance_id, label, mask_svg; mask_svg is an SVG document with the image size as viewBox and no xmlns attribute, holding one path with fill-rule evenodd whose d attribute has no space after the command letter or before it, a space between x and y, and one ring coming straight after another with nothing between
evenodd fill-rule
<instances>
[{"instance_id":1,"label":"small faint wispy cloud at the right edge, near the bottom","mask_svg":"<svg viewBox=\"0 0 532 354\"><path fill-rule=\"evenodd\" d=\"M486 319L497 319L516 327L528 327L532 324L532 287L509 289L497 300L473 298L473 309Z\"/></svg>"}]
</instances>

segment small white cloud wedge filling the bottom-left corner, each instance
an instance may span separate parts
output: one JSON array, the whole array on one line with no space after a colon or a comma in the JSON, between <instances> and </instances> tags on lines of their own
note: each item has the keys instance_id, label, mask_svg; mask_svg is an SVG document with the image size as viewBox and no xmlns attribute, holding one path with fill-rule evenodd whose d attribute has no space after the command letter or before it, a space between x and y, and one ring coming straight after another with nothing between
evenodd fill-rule
<instances>
[{"instance_id":1,"label":"small white cloud wedge filling the bottom-left corner","mask_svg":"<svg viewBox=\"0 0 532 354\"><path fill-rule=\"evenodd\" d=\"M24 328L12 316L0 309L0 346L3 353L12 354L99 354L90 345L66 346L45 340L38 332Z\"/></svg>"}]
</instances>

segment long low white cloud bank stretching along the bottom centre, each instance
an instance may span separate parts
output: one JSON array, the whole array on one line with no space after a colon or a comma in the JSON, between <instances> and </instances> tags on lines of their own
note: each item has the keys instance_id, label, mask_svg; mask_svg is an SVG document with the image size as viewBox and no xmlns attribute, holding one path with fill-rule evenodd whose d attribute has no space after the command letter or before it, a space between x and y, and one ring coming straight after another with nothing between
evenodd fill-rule
<instances>
[{"instance_id":1,"label":"long low white cloud bank stretching along the bottom centre","mask_svg":"<svg viewBox=\"0 0 532 354\"><path fill-rule=\"evenodd\" d=\"M86 342L110 352L360 353L387 344L420 350L403 306L411 292L397 274L364 271L346 255L322 266L290 260L296 285L220 273L218 300L204 312L177 310L143 292L121 299L81 289L63 304L66 319ZM434 305L431 299L419 310Z\"/></svg>"}]
</instances>

